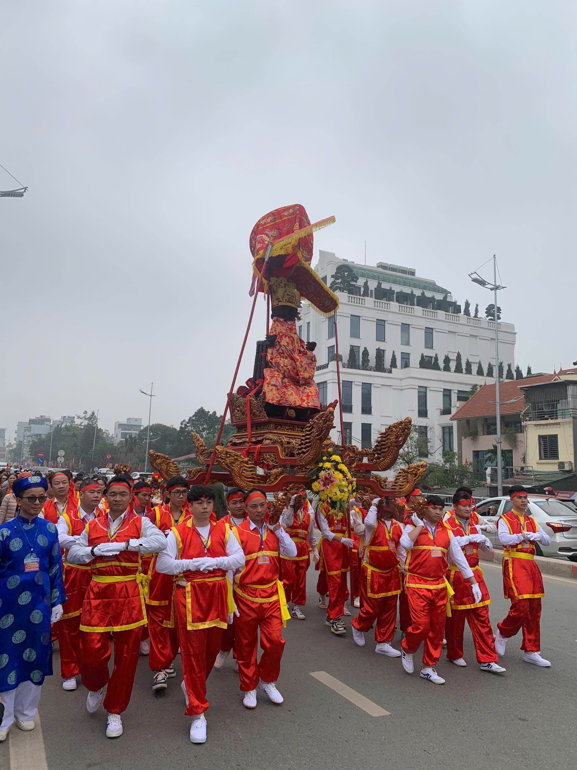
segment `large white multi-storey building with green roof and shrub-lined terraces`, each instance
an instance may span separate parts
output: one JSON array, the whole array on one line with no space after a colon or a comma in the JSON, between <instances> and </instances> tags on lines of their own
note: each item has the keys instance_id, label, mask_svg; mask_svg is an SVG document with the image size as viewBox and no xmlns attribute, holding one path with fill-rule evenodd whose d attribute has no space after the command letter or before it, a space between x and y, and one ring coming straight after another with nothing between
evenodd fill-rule
<instances>
[{"instance_id":1,"label":"large white multi-storey building with green roof and shrub-lined terraces","mask_svg":"<svg viewBox=\"0 0 577 770\"><path fill-rule=\"evenodd\" d=\"M319 251L315 270L330 285L336 267L343 263L359 278L355 293L339 293L345 444L370 447L385 427L411 417L419 435L429 439L430 459L440 460L442 451L457 448L451 414L468 399L473 384L485 382L485 376L476 374L479 362L485 373L489 363L495 367L495 322L463 315L449 290L434 280L419 278L412 268L388 263L359 265ZM362 296L363 290L368 296ZM375 299L375 290L384 298ZM485 307L491 295L483 294L479 305ZM297 324L303 340L317 343L315 381L322 403L331 403L339 398L334 316L325 318L303 302ZM368 368L362 368L365 348ZM379 360L375 360L378 350ZM396 368L391 367L393 353ZM454 371L457 353L463 373ZM419 367L419 362L425 367L435 365L435 354L441 370ZM451 360L450 372L442 371L445 356ZM515 367L512 323L499 323L499 358L505 371L509 363ZM471 374L465 373L467 360ZM332 438L340 440L340 428L333 431Z\"/></svg>"}]
</instances>

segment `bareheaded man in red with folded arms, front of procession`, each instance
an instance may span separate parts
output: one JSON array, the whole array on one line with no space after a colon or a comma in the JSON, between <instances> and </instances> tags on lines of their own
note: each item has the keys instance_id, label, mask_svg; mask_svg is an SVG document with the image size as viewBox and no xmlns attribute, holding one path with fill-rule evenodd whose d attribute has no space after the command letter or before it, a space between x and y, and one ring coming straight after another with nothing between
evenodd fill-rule
<instances>
[{"instance_id":1,"label":"bareheaded man in red with folded arms, front of procession","mask_svg":"<svg viewBox=\"0 0 577 770\"><path fill-rule=\"evenodd\" d=\"M168 533L166 551L156 568L174 580L174 614L181 646L185 714L192 716L190 740L206 741L206 680L221 644L222 629L235 611L227 572L245 563L228 522L212 519L215 493L195 484L188 490L192 516Z\"/></svg>"}]
</instances>

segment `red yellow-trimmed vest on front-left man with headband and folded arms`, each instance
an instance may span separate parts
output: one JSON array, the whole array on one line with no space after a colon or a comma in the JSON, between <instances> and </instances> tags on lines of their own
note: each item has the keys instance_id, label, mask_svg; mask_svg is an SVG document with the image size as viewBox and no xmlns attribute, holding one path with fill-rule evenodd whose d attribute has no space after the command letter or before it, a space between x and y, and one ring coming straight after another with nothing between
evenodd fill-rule
<instances>
[{"instance_id":1,"label":"red yellow-trimmed vest on front-left man with headband and folded arms","mask_svg":"<svg viewBox=\"0 0 577 770\"><path fill-rule=\"evenodd\" d=\"M142 517L125 514L115 534L108 534L108 519L88 522L88 547L101 543L125 543L142 537ZM91 564L92 581L82 604L81 631L128 631L145 625L142 572L138 551L116 556L96 556Z\"/></svg>"}]
</instances>

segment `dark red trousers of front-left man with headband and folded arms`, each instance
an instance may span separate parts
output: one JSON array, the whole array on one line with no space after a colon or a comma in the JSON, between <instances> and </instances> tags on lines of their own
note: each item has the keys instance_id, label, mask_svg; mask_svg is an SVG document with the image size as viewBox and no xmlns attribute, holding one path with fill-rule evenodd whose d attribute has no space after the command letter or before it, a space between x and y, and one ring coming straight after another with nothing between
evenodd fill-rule
<instances>
[{"instance_id":1,"label":"dark red trousers of front-left man with headband and folded arms","mask_svg":"<svg viewBox=\"0 0 577 770\"><path fill-rule=\"evenodd\" d=\"M105 711L108 714L122 714L126 710L138 664L142 627L129 631L112 631L114 641L114 668L108 674L111 655L110 631L80 632L80 673L82 684L95 692L105 685Z\"/></svg>"}]
</instances>

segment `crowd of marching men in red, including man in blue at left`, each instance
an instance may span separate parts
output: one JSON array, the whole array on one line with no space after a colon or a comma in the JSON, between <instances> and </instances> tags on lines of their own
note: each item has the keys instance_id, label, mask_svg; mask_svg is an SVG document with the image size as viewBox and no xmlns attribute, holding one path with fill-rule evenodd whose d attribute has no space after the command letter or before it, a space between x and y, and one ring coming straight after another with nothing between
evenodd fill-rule
<instances>
[{"instance_id":1,"label":"crowd of marching men in red, including man in blue at left","mask_svg":"<svg viewBox=\"0 0 577 770\"><path fill-rule=\"evenodd\" d=\"M180 653L193 743L206 741L208 675L231 651L242 705L256 708L258 692L282 704L282 628L288 618L305 620L312 562L330 632L345 636L343 618L358 607L355 644L364 646L374 626L375 652L401 658L407 674L421 645L427 681L445 683L434 668L445 645L449 661L466 666L465 620L481 671L505 672L499 658L520 630L523 660L551 665L540 655L544 589L534 561L535 543L549 537L529 515L523 487L511 488L512 511L497 524L511 607L493 634L479 549L491 550L486 534L495 525L479 517L466 487L446 514L440 497L419 489L401 506L375 498L363 507L364 498L353 497L349 511L313 510L303 490L280 516L262 490L229 488L218 518L214 488L190 486L182 476L165 481L157 497L146 480L128 474L73 480L57 470L7 480L0 506L0 741L14 722L35 727L56 641L62 689L75 690L82 678L88 711L102 705L107 713L108 738L122 735L139 656L147 656L158 694L175 678ZM400 649L393 646L398 618Z\"/></svg>"}]
</instances>

